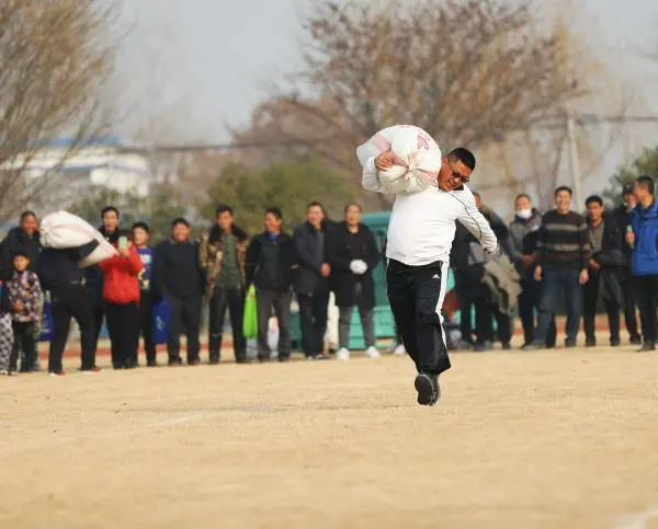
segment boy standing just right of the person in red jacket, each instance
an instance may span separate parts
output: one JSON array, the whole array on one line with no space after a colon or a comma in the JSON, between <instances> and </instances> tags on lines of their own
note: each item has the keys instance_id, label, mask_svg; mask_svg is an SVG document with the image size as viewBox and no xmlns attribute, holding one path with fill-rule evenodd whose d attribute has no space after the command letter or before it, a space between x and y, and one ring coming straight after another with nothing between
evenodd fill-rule
<instances>
[{"instance_id":1,"label":"boy standing just right of the person in red jacket","mask_svg":"<svg viewBox=\"0 0 658 529\"><path fill-rule=\"evenodd\" d=\"M151 269L154 264L154 249L149 246L150 230L146 222L133 225L133 243L141 260L141 272L139 280L139 335L144 336L144 350L146 352L146 364L156 367L156 345L154 344L154 296L151 290Z\"/></svg>"}]
</instances>

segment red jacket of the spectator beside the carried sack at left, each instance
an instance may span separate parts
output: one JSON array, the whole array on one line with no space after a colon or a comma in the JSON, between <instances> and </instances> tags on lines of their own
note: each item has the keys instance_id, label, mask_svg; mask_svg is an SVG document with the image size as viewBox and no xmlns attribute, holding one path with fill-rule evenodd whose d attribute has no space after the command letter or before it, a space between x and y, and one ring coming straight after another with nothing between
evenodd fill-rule
<instances>
[{"instance_id":1,"label":"red jacket of the spectator beside the carried sack at left","mask_svg":"<svg viewBox=\"0 0 658 529\"><path fill-rule=\"evenodd\" d=\"M139 254L135 248L131 255L115 255L101 261L99 266L105 275L103 279L103 299L111 303L127 304L139 301L138 274L144 268Z\"/></svg>"}]
</instances>

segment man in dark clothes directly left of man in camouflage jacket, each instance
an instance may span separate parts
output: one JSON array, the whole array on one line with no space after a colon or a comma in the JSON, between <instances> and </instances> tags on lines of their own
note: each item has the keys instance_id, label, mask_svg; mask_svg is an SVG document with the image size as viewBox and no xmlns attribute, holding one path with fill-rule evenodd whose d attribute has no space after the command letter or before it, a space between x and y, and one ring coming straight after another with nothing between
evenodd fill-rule
<instances>
[{"instance_id":1,"label":"man in dark clothes directly left of man in camouflage jacket","mask_svg":"<svg viewBox=\"0 0 658 529\"><path fill-rule=\"evenodd\" d=\"M180 366L181 334L188 336L188 364L200 363L201 299L203 274L198 266L198 244L190 239L191 227L183 218L171 222L171 239L156 249L152 280L157 299L166 299L171 309L167 353L169 365Z\"/></svg>"}]
</instances>

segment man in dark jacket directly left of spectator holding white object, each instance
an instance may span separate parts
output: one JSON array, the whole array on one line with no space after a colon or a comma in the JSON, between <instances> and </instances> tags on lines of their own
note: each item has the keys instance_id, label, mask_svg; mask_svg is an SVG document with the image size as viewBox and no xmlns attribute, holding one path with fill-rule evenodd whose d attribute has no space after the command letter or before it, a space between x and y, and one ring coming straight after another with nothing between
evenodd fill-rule
<instances>
[{"instance_id":1,"label":"man in dark jacket directly left of spectator holding white object","mask_svg":"<svg viewBox=\"0 0 658 529\"><path fill-rule=\"evenodd\" d=\"M306 222L295 229L294 240L299 260L295 292L299 303L302 348L307 359L327 359L325 333L329 310L329 276L331 265L326 253L327 221L325 207L311 202L306 207Z\"/></svg>"}]
</instances>

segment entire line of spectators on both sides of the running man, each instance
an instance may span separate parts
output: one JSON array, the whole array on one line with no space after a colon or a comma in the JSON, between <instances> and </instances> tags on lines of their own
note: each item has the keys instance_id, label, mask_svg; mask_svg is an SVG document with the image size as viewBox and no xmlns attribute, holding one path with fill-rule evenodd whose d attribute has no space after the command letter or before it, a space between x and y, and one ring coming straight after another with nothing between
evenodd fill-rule
<instances>
[{"instance_id":1,"label":"entire line of spectators on both sides of the running man","mask_svg":"<svg viewBox=\"0 0 658 529\"><path fill-rule=\"evenodd\" d=\"M586 345L595 346L595 314L608 314L610 345L621 344L620 314L625 314L629 341L640 350L656 346L658 302L658 205L654 181L637 179L622 191L623 206L606 212L603 200L588 197L587 215L571 210L571 191L555 191L555 209L541 215L531 198L515 199L515 215L506 225L490 208L476 204L496 232L501 251L513 263L521 294L518 313L526 350L556 345L555 315L565 292L567 347L577 344L583 320ZM373 269L384 258L374 234L361 222L362 208L348 204L342 221L331 221L319 202L307 207L307 220L293 233L282 229L282 211L264 212L261 233L249 237L235 221L228 205L216 209L213 228L191 238L184 218L174 219L170 237L152 248L149 227L121 226L112 206L101 212L103 237L117 255L80 268L78 262L93 245L58 251L42 249L34 212L21 216L20 226L2 242L0 266L0 373L39 369L37 340L44 299L49 298L53 336L48 372L65 375L61 364L71 319L80 329L81 366L98 371L97 347L106 324L112 367L139 365L139 341L145 360L158 365L152 335L154 308L166 300L171 320L167 342L170 366L183 364L182 334L186 336L186 363L201 363L202 309L208 308L208 361L222 357L224 322L231 323L232 349L238 364L250 361L242 329L246 292L256 288L258 307L258 360L271 358L268 331L274 315L279 325L276 357L291 358L291 304L299 307L300 349L309 360L329 358L325 350L330 292L339 309L339 344L336 357L350 358L350 325L359 309L365 356L376 358L374 332L375 281ZM509 310L496 301L484 271L490 256L460 225L451 254L455 291L462 314L461 344L484 352L499 341L511 347L513 324ZM47 292L47 294L46 294ZM636 321L639 308L642 335ZM467 315L475 312L475 329ZM644 338L644 341L643 341ZM404 346L396 340L396 354ZM20 363L20 366L19 366ZM19 369L20 368L20 369Z\"/></svg>"}]
</instances>

